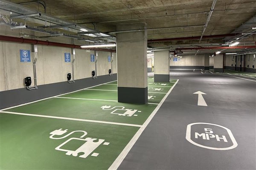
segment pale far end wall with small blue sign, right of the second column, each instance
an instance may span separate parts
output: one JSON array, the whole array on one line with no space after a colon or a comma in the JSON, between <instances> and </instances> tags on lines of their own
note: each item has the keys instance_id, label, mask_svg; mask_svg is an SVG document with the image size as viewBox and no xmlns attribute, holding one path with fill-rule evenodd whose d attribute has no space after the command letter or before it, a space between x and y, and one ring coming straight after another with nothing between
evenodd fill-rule
<instances>
[{"instance_id":1,"label":"pale far end wall with small blue sign, right of the second column","mask_svg":"<svg viewBox=\"0 0 256 170\"><path fill-rule=\"evenodd\" d=\"M170 68L204 68L204 55L185 55L177 57L177 61L173 61L173 58L170 60Z\"/></svg>"}]
</instances>

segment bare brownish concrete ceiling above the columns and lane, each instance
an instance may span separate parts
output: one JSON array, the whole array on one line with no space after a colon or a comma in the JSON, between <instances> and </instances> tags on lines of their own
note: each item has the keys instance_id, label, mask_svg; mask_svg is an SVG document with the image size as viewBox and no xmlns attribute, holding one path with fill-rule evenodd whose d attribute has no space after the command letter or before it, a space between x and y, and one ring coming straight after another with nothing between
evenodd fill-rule
<instances>
[{"instance_id":1,"label":"bare brownish concrete ceiling above the columns and lane","mask_svg":"<svg viewBox=\"0 0 256 170\"><path fill-rule=\"evenodd\" d=\"M25 3L36 0L11 0ZM116 31L121 23L145 22L147 28L204 25L212 0L44 0L47 14L103 32ZM44 12L38 4L24 5ZM217 0L204 35L230 34L256 15L255 0ZM256 25L256 20L254 25ZM201 36L203 26L148 31L148 40ZM255 37L244 39L253 45ZM201 43L222 43L209 39ZM151 47L198 44L199 40L153 42Z\"/></svg>"}]
</instances>

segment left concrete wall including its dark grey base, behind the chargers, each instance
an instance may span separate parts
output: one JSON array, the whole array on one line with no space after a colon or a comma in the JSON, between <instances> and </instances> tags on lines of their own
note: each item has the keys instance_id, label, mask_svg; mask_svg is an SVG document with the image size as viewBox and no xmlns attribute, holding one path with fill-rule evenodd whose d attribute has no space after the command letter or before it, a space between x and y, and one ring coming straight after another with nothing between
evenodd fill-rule
<instances>
[{"instance_id":1,"label":"left concrete wall including its dark grey base, behind the chargers","mask_svg":"<svg viewBox=\"0 0 256 170\"><path fill-rule=\"evenodd\" d=\"M37 37L49 35L26 29L12 31L9 26L0 25L1 35L20 37L21 33ZM77 45L88 44L88 42L77 40L72 42L72 39L67 37L36 39ZM98 79L92 79L91 71L95 70L95 63L90 62L90 54L94 54L94 51L76 49L75 83L68 83L67 73L72 73L72 64L71 62L64 62L64 53L71 54L71 48L38 45L38 60L36 62L38 89L28 91L24 85L24 78L31 77L32 85L34 85L33 53L30 54L31 62L20 62L20 49L30 50L31 52L31 44L0 41L0 109L110 82L116 80L117 77L116 53L113 53L113 76L109 76L108 69L111 68L111 62L108 62L108 55L110 55L110 52L98 51ZM70 55L71 60L72 57Z\"/></svg>"}]
</instances>

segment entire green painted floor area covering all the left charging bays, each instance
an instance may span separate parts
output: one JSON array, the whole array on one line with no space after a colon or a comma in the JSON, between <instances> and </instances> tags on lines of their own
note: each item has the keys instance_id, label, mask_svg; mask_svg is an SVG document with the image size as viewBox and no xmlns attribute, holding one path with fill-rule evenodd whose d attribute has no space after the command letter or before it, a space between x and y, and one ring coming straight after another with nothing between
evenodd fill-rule
<instances>
[{"instance_id":1,"label":"entire green painted floor area covering all the left charging bays","mask_svg":"<svg viewBox=\"0 0 256 170\"><path fill-rule=\"evenodd\" d=\"M110 82L4 109L0 169L108 169L172 87L149 83L145 105L117 102Z\"/></svg>"}]
</instances>

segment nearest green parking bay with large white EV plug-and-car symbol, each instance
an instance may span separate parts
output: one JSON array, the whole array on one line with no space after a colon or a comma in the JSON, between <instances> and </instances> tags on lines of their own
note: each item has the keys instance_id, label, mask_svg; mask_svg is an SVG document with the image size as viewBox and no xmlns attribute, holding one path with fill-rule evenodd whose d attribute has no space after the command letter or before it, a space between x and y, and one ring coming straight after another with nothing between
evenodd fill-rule
<instances>
[{"instance_id":1,"label":"nearest green parking bay with large white EV plug-and-car symbol","mask_svg":"<svg viewBox=\"0 0 256 170\"><path fill-rule=\"evenodd\" d=\"M0 114L0 169L108 169L139 127ZM54 130L66 130L54 135ZM87 133L81 138L82 135ZM55 131L55 133L58 131ZM71 139L71 140L70 140ZM86 140L84 140L86 139ZM92 143L93 139L93 143ZM68 141L70 140L70 141ZM68 142L67 142L68 141ZM67 142L67 143L65 143ZM83 150L89 145L94 150ZM60 150L55 148L59 147ZM84 147L83 147L84 146ZM81 151L77 156L75 151ZM85 153L82 153L85 151ZM66 155L66 153L71 155ZM79 157L84 154L84 157Z\"/></svg>"}]
</instances>

